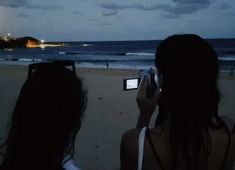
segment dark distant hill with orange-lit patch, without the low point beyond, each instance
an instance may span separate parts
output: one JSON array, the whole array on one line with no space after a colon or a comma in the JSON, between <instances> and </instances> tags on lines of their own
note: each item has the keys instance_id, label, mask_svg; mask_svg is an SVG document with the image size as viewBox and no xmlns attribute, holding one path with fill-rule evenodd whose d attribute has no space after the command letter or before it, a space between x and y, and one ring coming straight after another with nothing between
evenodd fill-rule
<instances>
[{"instance_id":1,"label":"dark distant hill with orange-lit patch, without the low point beyond","mask_svg":"<svg viewBox=\"0 0 235 170\"><path fill-rule=\"evenodd\" d=\"M40 41L33 37L0 37L0 48L29 48L38 47Z\"/></svg>"}]
</instances>

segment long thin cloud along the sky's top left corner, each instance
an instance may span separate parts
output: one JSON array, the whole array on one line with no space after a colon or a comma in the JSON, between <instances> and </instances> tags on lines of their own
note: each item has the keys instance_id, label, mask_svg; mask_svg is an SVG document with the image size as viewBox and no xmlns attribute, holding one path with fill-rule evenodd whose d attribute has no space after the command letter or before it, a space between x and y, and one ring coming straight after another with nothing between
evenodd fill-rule
<instances>
[{"instance_id":1,"label":"long thin cloud along the sky's top left corner","mask_svg":"<svg viewBox=\"0 0 235 170\"><path fill-rule=\"evenodd\" d=\"M62 7L50 4L31 4L28 0L0 0L0 6L9 8L33 8L33 9L60 9Z\"/></svg>"}]
</instances>

